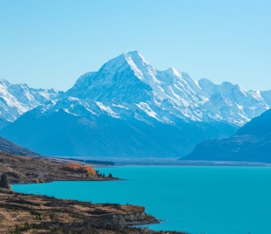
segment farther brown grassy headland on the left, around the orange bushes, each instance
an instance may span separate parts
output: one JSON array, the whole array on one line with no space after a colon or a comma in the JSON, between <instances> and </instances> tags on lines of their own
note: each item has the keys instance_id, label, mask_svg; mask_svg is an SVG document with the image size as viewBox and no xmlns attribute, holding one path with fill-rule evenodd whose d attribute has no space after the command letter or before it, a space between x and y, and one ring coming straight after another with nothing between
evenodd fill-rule
<instances>
[{"instance_id":1,"label":"farther brown grassy headland on the left, around the orange bushes","mask_svg":"<svg viewBox=\"0 0 271 234\"><path fill-rule=\"evenodd\" d=\"M74 164L75 161L62 160L50 157L26 157L10 153L0 152L0 174L5 173L10 183L44 183L57 180L65 181L104 181L118 180L112 177L99 177L91 173L75 173L62 170L65 164ZM76 162L82 166L93 166L82 162ZM97 165L95 165L97 167Z\"/></svg>"}]
</instances>

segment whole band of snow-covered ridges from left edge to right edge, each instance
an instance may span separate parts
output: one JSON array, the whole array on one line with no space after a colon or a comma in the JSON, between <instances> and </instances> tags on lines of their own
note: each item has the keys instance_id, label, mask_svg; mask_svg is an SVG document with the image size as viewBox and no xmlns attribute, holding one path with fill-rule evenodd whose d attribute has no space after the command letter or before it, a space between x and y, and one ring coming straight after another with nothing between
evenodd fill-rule
<instances>
[{"instance_id":1,"label":"whole band of snow-covered ridges from left edge to right edge","mask_svg":"<svg viewBox=\"0 0 271 234\"><path fill-rule=\"evenodd\" d=\"M140 108L146 113L155 112L153 109L158 108L161 113L156 113L156 118L162 122L168 119L167 115L174 114L187 121L226 121L239 127L264 112L271 104L271 91L246 92L239 85L229 82L216 85L206 78L194 81L188 73L173 67L164 71L157 70L138 51L123 53L109 60L98 71L85 73L64 93L52 89L32 89L25 84L11 85L3 79L1 81L0 107L7 110L9 106L9 103L1 102L2 83L13 86L22 93L21 97L15 95L16 101L21 101L14 107L16 113L6 116L7 111L0 112L0 118L9 122L38 105L61 99L62 96L92 99L98 103L109 102L111 109L123 106L122 102L133 104L132 109ZM16 89L15 92L10 90L11 94L20 93ZM43 100L36 100L38 98L33 97L34 92L44 97ZM9 99L9 93L2 96ZM120 103L114 103L114 100ZM96 105L100 107L97 103Z\"/></svg>"}]
</instances>

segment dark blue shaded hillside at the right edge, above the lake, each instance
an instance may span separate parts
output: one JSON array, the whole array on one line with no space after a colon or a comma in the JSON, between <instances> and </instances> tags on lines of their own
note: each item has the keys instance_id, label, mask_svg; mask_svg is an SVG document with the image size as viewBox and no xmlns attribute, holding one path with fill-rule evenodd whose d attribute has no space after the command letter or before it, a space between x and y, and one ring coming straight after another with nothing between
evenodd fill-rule
<instances>
[{"instance_id":1,"label":"dark blue shaded hillside at the right edge, above the lake","mask_svg":"<svg viewBox=\"0 0 271 234\"><path fill-rule=\"evenodd\" d=\"M271 162L271 109L235 135L198 144L183 160Z\"/></svg>"}]
</instances>

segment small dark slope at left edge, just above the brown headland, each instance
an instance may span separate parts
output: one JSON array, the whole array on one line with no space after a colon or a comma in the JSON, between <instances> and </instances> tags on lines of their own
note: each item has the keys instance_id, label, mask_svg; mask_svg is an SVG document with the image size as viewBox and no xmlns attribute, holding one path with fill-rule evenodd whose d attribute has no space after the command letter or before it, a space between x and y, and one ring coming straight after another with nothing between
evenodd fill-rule
<instances>
[{"instance_id":1,"label":"small dark slope at left edge, just above the brown headland","mask_svg":"<svg viewBox=\"0 0 271 234\"><path fill-rule=\"evenodd\" d=\"M17 154L17 155L28 155L28 156L38 156L40 154L35 153L27 148L21 147L20 145L14 144L13 142L0 137L0 151Z\"/></svg>"}]
</instances>

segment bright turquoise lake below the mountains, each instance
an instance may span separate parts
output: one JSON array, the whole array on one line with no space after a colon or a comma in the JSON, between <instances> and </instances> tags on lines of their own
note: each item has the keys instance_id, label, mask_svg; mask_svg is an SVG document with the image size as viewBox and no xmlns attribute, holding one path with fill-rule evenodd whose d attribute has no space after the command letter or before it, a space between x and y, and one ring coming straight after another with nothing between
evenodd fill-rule
<instances>
[{"instance_id":1,"label":"bright turquoise lake below the mountains","mask_svg":"<svg viewBox=\"0 0 271 234\"><path fill-rule=\"evenodd\" d=\"M271 168L119 166L122 181L13 185L19 192L94 203L137 204L162 220L155 230L192 234L271 233Z\"/></svg>"}]
</instances>

